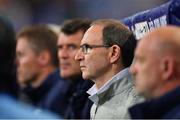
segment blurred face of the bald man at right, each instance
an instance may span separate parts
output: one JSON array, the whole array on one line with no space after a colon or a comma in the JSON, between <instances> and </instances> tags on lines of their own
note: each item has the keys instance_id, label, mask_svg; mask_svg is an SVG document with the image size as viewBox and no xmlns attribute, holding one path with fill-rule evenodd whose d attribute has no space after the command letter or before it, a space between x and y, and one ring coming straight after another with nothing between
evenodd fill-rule
<instances>
[{"instance_id":1,"label":"blurred face of the bald man at right","mask_svg":"<svg viewBox=\"0 0 180 120\"><path fill-rule=\"evenodd\" d=\"M135 51L135 61L131 66L137 91L145 97L151 97L161 83L160 58L156 45L141 40Z\"/></svg>"}]
</instances>

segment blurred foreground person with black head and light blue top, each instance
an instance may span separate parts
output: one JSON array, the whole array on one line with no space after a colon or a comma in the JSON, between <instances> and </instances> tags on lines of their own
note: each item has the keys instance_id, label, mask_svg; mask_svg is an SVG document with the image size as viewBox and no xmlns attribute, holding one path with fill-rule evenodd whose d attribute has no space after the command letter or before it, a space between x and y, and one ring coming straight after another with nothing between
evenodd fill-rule
<instances>
[{"instance_id":1,"label":"blurred foreground person with black head and light blue top","mask_svg":"<svg viewBox=\"0 0 180 120\"><path fill-rule=\"evenodd\" d=\"M34 113L35 108L14 99L17 86L14 84L15 33L8 19L0 17L0 119L55 119L49 113ZM16 93L16 94L14 94Z\"/></svg>"}]
</instances>

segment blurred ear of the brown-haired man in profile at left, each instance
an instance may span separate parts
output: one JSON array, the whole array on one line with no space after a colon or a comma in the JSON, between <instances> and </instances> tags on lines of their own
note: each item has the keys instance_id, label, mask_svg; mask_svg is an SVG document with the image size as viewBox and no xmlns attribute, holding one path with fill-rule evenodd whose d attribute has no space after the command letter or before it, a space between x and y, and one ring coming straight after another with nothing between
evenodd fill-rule
<instances>
[{"instance_id":1,"label":"blurred ear of the brown-haired man in profile at left","mask_svg":"<svg viewBox=\"0 0 180 120\"><path fill-rule=\"evenodd\" d=\"M50 57L50 53L48 51L42 51L38 55L38 62L39 62L40 66L45 66L45 65L49 64L50 59L51 59L51 57Z\"/></svg>"}]
</instances>

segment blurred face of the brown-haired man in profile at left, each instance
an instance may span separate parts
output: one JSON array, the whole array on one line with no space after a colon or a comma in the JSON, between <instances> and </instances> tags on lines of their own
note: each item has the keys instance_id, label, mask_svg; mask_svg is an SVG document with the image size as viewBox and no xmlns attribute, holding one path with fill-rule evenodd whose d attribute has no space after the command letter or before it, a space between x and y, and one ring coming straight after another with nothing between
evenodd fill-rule
<instances>
[{"instance_id":1,"label":"blurred face of the brown-haired man in profile at left","mask_svg":"<svg viewBox=\"0 0 180 120\"><path fill-rule=\"evenodd\" d=\"M16 46L17 78L20 85L33 81L39 74L38 56L26 38L19 38Z\"/></svg>"}]
</instances>

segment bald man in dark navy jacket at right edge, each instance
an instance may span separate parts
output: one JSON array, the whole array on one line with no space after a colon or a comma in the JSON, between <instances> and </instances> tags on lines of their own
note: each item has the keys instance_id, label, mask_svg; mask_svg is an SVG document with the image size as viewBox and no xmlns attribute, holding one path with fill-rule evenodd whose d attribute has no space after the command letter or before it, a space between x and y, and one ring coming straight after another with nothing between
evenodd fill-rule
<instances>
[{"instance_id":1,"label":"bald man in dark navy jacket at right edge","mask_svg":"<svg viewBox=\"0 0 180 120\"><path fill-rule=\"evenodd\" d=\"M129 109L131 118L180 118L179 52L179 27L158 28L139 42L131 72L148 100Z\"/></svg>"}]
</instances>

